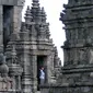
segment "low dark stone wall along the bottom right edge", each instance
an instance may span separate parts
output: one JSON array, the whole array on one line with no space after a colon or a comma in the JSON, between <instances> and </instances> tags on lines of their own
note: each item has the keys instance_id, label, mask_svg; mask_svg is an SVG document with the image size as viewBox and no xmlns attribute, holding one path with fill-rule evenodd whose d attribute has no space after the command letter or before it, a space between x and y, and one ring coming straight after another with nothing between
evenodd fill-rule
<instances>
[{"instance_id":1,"label":"low dark stone wall along the bottom right edge","mask_svg":"<svg viewBox=\"0 0 93 93\"><path fill-rule=\"evenodd\" d=\"M40 88L40 93L93 93L93 85L56 86L46 85Z\"/></svg>"}]
</instances>

